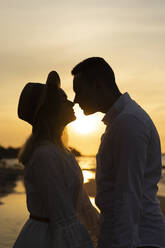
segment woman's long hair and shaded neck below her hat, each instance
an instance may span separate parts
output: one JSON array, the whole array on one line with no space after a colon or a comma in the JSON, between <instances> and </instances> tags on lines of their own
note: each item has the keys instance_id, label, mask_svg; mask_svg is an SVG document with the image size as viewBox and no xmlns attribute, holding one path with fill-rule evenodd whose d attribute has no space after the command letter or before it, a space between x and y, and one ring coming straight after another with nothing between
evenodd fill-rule
<instances>
[{"instance_id":1,"label":"woman's long hair and shaded neck below her hat","mask_svg":"<svg viewBox=\"0 0 165 248\"><path fill-rule=\"evenodd\" d=\"M21 148L18 159L25 165L32 156L35 149L45 140L55 143L62 149L66 150L62 142L64 127L59 122L60 98L54 96L53 102L47 98L44 105L35 117L32 133Z\"/></svg>"}]
</instances>

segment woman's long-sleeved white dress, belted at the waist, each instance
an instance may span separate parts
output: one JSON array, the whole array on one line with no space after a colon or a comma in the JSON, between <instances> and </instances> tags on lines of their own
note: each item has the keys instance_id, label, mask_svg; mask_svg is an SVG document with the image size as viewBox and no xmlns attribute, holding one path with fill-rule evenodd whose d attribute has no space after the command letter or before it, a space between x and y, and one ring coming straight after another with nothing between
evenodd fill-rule
<instances>
[{"instance_id":1,"label":"woman's long-sleeved white dress, belted at the waist","mask_svg":"<svg viewBox=\"0 0 165 248\"><path fill-rule=\"evenodd\" d=\"M13 248L92 248L80 219L83 212L89 216L93 207L86 196L83 201L83 177L72 154L65 154L53 143L40 145L24 173L29 213L49 218L49 222L29 218ZM97 224L93 224L95 232Z\"/></svg>"}]
</instances>

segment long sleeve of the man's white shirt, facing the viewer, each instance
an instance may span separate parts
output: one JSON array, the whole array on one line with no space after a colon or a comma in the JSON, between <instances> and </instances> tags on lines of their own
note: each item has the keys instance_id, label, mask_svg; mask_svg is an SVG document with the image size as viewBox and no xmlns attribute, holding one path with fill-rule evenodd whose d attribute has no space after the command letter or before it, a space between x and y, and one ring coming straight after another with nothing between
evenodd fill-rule
<instances>
[{"instance_id":1,"label":"long sleeve of the man's white shirt, facing the viewer","mask_svg":"<svg viewBox=\"0 0 165 248\"><path fill-rule=\"evenodd\" d=\"M140 120L125 115L105 136L100 165L103 177L97 182L103 215L99 248L133 248L139 241L147 133Z\"/></svg>"}]
</instances>

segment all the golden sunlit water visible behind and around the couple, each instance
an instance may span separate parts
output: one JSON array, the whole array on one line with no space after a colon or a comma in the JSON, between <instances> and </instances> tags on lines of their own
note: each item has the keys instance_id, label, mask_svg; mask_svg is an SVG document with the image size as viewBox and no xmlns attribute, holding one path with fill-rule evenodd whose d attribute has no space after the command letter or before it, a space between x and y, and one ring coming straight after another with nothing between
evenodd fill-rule
<instances>
[{"instance_id":1,"label":"all the golden sunlit water visible behind and around the couple","mask_svg":"<svg viewBox=\"0 0 165 248\"><path fill-rule=\"evenodd\" d=\"M95 157L80 157L79 164L83 170L84 182L95 178ZM7 160L8 166L16 164L17 160ZM165 156L162 156L162 163L165 166ZM159 195L165 196L165 169L162 170L162 178L159 183ZM94 198L91 197L94 204ZM15 191L1 198L0 205L0 248L10 248L26 222L29 213L26 209L26 196L23 182L17 181Z\"/></svg>"}]
</instances>

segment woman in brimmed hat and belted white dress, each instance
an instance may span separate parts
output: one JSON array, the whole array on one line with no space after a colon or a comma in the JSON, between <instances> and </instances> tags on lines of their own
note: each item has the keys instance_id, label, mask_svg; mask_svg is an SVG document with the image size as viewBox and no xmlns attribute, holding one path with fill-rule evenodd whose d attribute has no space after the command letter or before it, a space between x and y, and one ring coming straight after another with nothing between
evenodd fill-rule
<instances>
[{"instance_id":1,"label":"woman in brimmed hat and belted white dress","mask_svg":"<svg viewBox=\"0 0 165 248\"><path fill-rule=\"evenodd\" d=\"M49 73L46 85L24 87L18 116L32 125L20 154L30 217L14 248L93 247L89 233L95 242L99 215L83 188L75 158L61 141L64 127L75 115L55 71Z\"/></svg>"}]
</instances>

